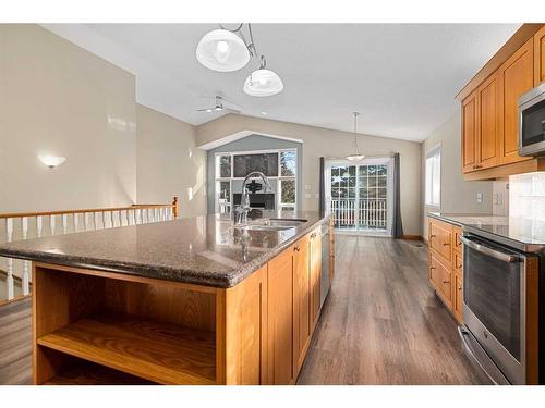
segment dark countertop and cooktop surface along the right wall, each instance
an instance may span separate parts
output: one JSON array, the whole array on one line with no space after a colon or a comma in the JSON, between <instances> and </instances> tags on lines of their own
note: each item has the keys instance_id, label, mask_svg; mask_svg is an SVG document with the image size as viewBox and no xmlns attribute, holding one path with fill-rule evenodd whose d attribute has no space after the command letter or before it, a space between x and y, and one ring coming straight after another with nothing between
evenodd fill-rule
<instances>
[{"instance_id":1,"label":"dark countertop and cooktop surface along the right wall","mask_svg":"<svg viewBox=\"0 0 545 408\"><path fill-rule=\"evenodd\" d=\"M476 230L494 236L505 238L506 244L513 245L529 252L545 250L545 221L525 218L488 215L488 214L452 214L428 212L429 217Z\"/></svg>"}]
</instances>

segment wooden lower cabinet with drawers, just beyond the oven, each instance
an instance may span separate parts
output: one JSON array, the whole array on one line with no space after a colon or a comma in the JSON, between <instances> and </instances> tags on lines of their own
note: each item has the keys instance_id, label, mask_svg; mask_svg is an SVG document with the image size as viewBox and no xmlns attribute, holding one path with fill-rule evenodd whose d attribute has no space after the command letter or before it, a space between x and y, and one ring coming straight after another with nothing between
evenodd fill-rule
<instances>
[{"instance_id":1,"label":"wooden lower cabinet with drawers, just beyond the oven","mask_svg":"<svg viewBox=\"0 0 545 408\"><path fill-rule=\"evenodd\" d=\"M429 218L428 234L429 285L461 324L463 321L461 228L458 225Z\"/></svg>"}]
</instances>

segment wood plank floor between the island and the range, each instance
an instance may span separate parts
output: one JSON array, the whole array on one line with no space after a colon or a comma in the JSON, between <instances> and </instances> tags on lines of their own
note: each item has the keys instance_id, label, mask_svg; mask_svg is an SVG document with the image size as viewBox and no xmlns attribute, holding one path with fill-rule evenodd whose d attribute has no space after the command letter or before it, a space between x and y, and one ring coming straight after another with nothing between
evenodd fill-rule
<instances>
[{"instance_id":1,"label":"wood plank floor between the island and the range","mask_svg":"<svg viewBox=\"0 0 545 408\"><path fill-rule=\"evenodd\" d=\"M298 384L487 384L427 284L419 242L336 236L336 277Z\"/></svg>"}]
</instances>

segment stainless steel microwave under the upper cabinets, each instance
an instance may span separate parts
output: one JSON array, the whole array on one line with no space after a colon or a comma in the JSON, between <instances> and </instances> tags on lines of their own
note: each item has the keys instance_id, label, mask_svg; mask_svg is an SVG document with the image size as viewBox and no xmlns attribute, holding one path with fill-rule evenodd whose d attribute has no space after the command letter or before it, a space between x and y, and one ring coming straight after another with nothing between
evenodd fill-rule
<instances>
[{"instance_id":1,"label":"stainless steel microwave under the upper cabinets","mask_svg":"<svg viewBox=\"0 0 545 408\"><path fill-rule=\"evenodd\" d=\"M519 154L545 154L545 83L519 99Z\"/></svg>"}]
</instances>

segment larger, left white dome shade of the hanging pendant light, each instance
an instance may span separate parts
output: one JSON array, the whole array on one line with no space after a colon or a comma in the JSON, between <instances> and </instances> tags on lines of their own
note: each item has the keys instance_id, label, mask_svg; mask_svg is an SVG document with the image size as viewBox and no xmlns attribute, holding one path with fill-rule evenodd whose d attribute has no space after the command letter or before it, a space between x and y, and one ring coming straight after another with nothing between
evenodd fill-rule
<instances>
[{"instance_id":1,"label":"larger, left white dome shade of the hanging pendant light","mask_svg":"<svg viewBox=\"0 0 545 408\"><path fill-rule=\"evenodd\" d=\"M198 41L196 58L209 70L231 72L246 66L250 52L237 34L227 29L214 29Z\"/></svg>"}]
</instances>

